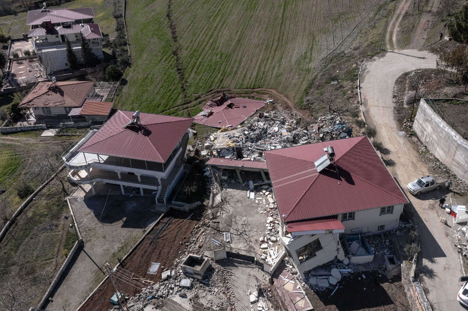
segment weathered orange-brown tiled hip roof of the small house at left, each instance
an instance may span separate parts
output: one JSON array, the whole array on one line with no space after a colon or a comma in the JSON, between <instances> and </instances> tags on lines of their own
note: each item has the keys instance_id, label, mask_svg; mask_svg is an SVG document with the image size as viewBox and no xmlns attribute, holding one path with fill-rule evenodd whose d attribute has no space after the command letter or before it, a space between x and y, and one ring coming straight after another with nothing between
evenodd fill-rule
<instances>
[{"instance_id":1,"label":"weathered orange-brown tiled hip roof of the small house at left","mask_svg":"<svg viewBox=\"0 0 468 311\"><path fill-rule=\"evenodd\" d=\"M94 81L38 82L20 107L76 107L83 105Z\"/></svg>"}]
</instances>

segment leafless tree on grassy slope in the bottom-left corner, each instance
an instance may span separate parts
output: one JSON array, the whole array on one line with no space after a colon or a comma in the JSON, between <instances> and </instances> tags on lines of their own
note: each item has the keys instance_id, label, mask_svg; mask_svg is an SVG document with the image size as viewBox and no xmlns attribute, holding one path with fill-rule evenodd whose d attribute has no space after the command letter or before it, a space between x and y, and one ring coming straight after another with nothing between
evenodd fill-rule
<instances>
[{"instance_id":1,"label":"leafless tree on grassy slope in the bottom-left corner","mask_svg":"<svg viewBox=\"0 0 468 311\"><path fill-rule=\"evenodd\" d=\"M0 280L0 310L28 310L34 288L17 275L10 273Z\"/></svg>"}]
</instances>

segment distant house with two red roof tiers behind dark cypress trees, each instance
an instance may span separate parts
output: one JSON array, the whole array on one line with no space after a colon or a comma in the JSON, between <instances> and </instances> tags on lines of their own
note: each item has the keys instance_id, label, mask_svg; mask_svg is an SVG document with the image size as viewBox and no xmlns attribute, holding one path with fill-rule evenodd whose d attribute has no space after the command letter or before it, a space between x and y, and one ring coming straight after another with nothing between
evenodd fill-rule
<instances>
[{"instance_id":1,"label":"distant house with two red roof tiers behind dark cypress trees","mask_svg":"<svg viewBox=\"0 0 468 311\"><path fill-rule=\"evenodd\" d=\"M58 71L68 68L66 61L66 38L72 44L78 60L81 59L80 33L89 42L93 53L103 59L102 33L94 22L91 7L74 9L59 8L28 11L26 25L30 27L28 37L34 51L49 63L49 70ZM50 72L48 72L49 74Z\"/></svg>"}]
</instances>

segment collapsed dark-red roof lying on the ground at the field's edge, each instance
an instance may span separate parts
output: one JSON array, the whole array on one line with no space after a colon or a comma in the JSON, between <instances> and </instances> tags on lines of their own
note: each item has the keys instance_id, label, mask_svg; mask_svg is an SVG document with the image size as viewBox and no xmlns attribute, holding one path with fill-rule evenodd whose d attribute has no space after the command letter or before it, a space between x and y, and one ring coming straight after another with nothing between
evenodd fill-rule
<instances>
[{"instance_id":1,"label":"collapsed dark-red roof lying on the ground at the field's edge","mask_svg":"<svg viewBox=\"0 0 468 311\"><path fill-rule=\"evenodd\" d=\"M228 97L223 93L218 99L210 99L193 121L209 127L236 127L263 106L261 100Z\"/></svg>"}]
</instances>

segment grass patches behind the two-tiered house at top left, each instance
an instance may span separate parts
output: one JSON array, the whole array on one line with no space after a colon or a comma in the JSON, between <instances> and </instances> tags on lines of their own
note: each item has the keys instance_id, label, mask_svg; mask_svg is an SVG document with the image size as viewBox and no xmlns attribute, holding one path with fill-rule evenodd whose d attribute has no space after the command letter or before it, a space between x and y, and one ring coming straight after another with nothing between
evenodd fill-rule
<instances>
[{"instance_id":1,"label":"grass patches behind the two-tiered house at top left","mask_svg":"<svg viewBox=\"0 0 468 311\"><path fill-rule=\"evenodd\" d=\"M112 17L112 0L75 0L64 3L60 7L77 8L92 7L95 14L95 22L104 35L115 35L115 20ZM57 7L50 7L57 8ZM21 35L28 33L29 27L26 26L26 12L16 15L7 15L0 17L0 27L5 35Z\"/></svg>"}]
</instances>

